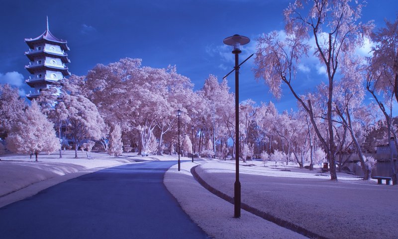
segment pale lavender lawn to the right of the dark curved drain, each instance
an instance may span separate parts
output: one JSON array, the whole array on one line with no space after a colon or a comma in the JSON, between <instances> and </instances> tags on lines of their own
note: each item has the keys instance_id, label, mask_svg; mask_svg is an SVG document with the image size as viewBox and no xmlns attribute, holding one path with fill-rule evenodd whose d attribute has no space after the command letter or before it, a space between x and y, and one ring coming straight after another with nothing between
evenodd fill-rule
<instances>
[{"instance_id":1,"label":"pale lavender lawn to the right of the dark curved drain","mask_svg":"<svg viewBox=\"0 0 398 239\"><path fill-rule=\"evenodd\" d=\"M261 161L240 163L242 203L334 239L387 239L398 235L398 187L377 185L338 173L338 182L289 165L264 167ZM213 161L197 167L213 188L233 197L234 161ZM325 174L325 173L323 173Z\"/></svg>"}]
</instances>

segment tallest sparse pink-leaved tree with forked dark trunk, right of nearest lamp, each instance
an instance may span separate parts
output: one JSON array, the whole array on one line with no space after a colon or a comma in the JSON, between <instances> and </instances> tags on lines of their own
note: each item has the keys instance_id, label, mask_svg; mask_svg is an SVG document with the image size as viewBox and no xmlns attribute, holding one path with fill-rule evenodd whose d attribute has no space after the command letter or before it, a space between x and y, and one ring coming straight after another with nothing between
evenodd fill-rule
<instances>
[{"instance_id":1,"label":"tallest sparse pink-leaved tree with forked dark trunk, right of nearest lamp","mask_svg":"<svg viewBox=\"0 0 398 239\"><path fill-rule=\"evenodd\" d=\"M336 145L333 129L333 88L338 80L341 62L355 54L364 37L369 36L372 23L360 22L362 4L351 0L296 0L285 9L285 31L279 35L274 31L259 38L255 64L255 75L262 78L275 97L282 96L284 83L308 114L313 129L327 151L330 162L330 179L337 180L334 156ZM312 45L309 44L313 37ZM312 39L311 39L312 40ZM327 74L327 97L325 125L322 133L315 122L313 102L303 100L294 83L300 61L313 52Z\"/></svg>"}]
</instances>

